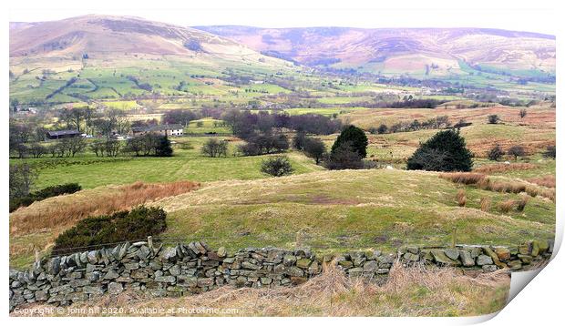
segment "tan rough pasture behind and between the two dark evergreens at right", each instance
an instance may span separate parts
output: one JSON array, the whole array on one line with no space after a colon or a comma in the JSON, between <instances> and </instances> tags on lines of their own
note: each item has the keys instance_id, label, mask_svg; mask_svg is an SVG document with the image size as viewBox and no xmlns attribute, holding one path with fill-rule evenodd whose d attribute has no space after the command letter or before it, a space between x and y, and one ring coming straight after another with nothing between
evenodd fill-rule
<instances>
[{"instance_id":1,"label":"tan rough pasture behind and between the two dark evergreens at right","mask_svg":"<svg viewBox=\"0 0 565 326\"><path fill-rule=\"evenodd\" d=\"M481 108L416 108L416 109L390 109L371 108L354 110L339 116L342 121L358 127L369 129L385 124L404 121L420 122L431 117L447 116L451 124L456 124L460 119L471 122L469 127L461 128L461 135L466 139L467 147L479 160L486 158L488 150L494 144L504 149L512 146L522 146L529 155L536 155L550 145L555 145L555 109L549 107L529 107L528 115L519 117L519 109L523 107L481 107ZM488 124L488 116L497 114L501 121L497 125ZM383 135L368 135L369 148L367 153L375 160L397 164L399 167L406 162L406 158L418 148L421 142L426 141L437 133L438 130L423 129L411 132L398 132ZM334 135L324 137L327 145L334 141ZM508 158L510 159L510 158ZM539 159L536 157L534 159Z\"/></svg>"}]
</instances>

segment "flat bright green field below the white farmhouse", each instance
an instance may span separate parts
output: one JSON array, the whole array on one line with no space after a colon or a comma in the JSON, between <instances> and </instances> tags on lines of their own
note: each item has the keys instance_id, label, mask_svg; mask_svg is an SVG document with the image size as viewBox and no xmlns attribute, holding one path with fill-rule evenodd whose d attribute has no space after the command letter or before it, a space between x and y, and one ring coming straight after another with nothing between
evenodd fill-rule
<instances>
[{"instance_id":1,"label":"flat bright green field below the white farmhouse","mask_svg":"<svg viewBox=\"0 0 565 326\"><path fill-rule=\"evenodd\" d=\"M190 128L189 128L190 130ZM77 182L83 188L120 185L135 181L165 182L175 180L214 181L265 178L262 157L234 157L238 141L232 141L226 158L207 158L200 154L208 137L170 138L175 142L172 158L96 158L85 153L77 158L26 158L39 167L37 188ZM223 139L223 138L222 138ZM230 139L230 138L228 138ZM300 153L288 154L294 173L322 169L313 159ZM19 162L12 159L12 163Z\"/></svg>"}]
</instances>

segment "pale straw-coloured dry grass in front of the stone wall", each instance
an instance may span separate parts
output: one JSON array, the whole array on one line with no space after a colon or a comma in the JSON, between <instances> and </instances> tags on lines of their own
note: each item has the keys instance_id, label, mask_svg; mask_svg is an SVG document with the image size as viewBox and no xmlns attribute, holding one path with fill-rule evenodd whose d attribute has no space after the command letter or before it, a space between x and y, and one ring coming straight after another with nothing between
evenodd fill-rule
<instances>
[{"instance_id":1,"label":"pale straw-coloured dry grass in front of the stone wall","mask_svg":"<svg viewBox=\"0 0 565 326\"><path fill-rule=\"evenodd\" d=\"M88 308L115 307L124 310L120 315L138 316L162 316L141 311L148 308L163 311L182 308L183 312L176 310L176 313L165 314L188 316L469 316L502 309L508 289L509 277L505 271L471 278L455 269L395 265L382 286L367 280L350 279L339 270L329 269L293 288L235 289L226 286L198 295L159 299L126 291L118 297L104 295L98 301L72 306L85 311L76 310L72 314L62 311L58 315L100 316L99 312L88 311ZM29 306L46 307L41 304ZM191 311L196 308L208 310ZM56 311L51 313L57 315Z\"/></svg>"}]
</instances>

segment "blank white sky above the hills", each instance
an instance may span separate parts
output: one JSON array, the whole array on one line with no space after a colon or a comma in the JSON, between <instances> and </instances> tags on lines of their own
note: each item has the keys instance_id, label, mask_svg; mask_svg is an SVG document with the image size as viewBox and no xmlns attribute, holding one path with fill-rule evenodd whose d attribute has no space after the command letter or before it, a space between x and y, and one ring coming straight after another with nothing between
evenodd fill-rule
<instances>
[{"instance_id":1,"label":"blank white sky above the hills","mask_svg":"<svg viewBox=\"0 0 565 326\"><path fill-rule=\"evenodd\" d=\"M465 3L441 0L213 0L192 3L169 0L20 0L11 2L8 17L11 22L36 22L87 14L133 15L176 25L485 27L555 35L558 13L546 0L475 0Z\"/></svg>"}]
</instances>

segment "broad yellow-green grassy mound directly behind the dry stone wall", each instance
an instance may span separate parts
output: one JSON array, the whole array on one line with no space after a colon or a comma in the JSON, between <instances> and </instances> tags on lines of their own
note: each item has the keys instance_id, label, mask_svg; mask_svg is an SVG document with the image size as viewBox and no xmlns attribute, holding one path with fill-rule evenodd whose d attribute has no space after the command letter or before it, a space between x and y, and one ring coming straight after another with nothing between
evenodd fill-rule
<instances>
[{"instance_id":1,"label":"broad yellow-green grassy mound directly behind the dry stone wall","mask_svg":"<svg viewBox=\"0 0 565 326\"><path fill-rule=\"evenodd\" d=\"M459 188L467 194L465 208L457 207ZM480 210L483 198L492 200L488 212ZM318 250L445 245L453 228L461 243L553 237L553 202L530 199L523 212L502 214L496 205L507 199L519 195L458 186L437 173L378 169L211 182L160 203L170 212L166 235L231 249L265 243Z\"/></svg>"}]
</instances>

